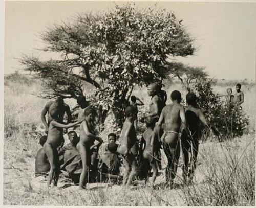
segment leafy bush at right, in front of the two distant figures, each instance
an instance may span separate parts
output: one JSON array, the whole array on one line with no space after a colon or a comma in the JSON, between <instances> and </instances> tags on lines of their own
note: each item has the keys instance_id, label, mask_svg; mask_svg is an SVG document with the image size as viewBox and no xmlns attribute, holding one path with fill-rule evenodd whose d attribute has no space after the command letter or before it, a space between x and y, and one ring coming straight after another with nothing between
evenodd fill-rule
<instances>
[{"instance_id":1,"label":"leafy bush at right, in front of the two distant figures","mask_svg":"<svg viewBox=\"0 0 256 208\"><path fill-rule=\"evenodd\" d=\"M243 134L249 124L249 118L240 106L224 103L215 95L210 81L198 80L193 88L188 88L197 95L198 107L209 120L215 133L227 138Z\"/></svg>"}]
</instances>

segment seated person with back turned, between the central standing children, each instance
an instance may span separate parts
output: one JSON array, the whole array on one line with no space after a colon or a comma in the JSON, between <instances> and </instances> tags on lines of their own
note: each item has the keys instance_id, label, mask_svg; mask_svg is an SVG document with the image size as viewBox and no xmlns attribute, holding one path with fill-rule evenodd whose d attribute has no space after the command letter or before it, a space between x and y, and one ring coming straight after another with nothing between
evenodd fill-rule
<instances>
[{"instance_id":1,"label":"seated person with back turned, between the central standing children","mask_svg":"<svg viewBox=\"0 0 256 208\"><path fill-rule=\"evenodd\" d=\"M110 179L116 182L120 179L120 161L117 154L118 145L111 142L107 146L107 151L101 156L99 160L98 169L102 174L103 180Z\"/></svg>"}]
</instances>

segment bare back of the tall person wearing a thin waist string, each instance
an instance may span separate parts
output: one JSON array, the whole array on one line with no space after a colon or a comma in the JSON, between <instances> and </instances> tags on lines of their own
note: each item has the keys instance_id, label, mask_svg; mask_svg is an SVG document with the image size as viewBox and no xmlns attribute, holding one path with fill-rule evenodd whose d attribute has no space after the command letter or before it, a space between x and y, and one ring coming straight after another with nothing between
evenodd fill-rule
<instances>
[{"instance_id":1,"label":"bare back of the tall person wearing a thin waist string","mask_svg":"<svg viewBox=\"0 0 256 208\"><path fill-rule=\"evenodd\" d=\"M180 118L180 104L170 104L163 108L163 116L164 116L164 131L175 131L179 132L181 125Z\"/></svg>"}]
</instances>

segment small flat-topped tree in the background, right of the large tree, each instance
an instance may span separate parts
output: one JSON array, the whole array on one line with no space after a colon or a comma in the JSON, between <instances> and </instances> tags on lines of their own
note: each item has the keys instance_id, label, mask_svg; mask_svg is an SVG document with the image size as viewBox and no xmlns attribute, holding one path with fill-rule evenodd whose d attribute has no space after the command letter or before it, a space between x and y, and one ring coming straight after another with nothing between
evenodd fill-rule
<instances>
[{"instance_id":1,"label":"small flat-topped tree in the background, right of the large tree","mask_svg":"<svg viewBox=\"0 0 256 208\"><path fill-rule=\"evenodd\" d=\"M185 82L187 87L192 81L198 79L206 80L208 77L208 73L204 71L204 67L191 67L180 62L172 62L167 63L166 68L168 68L166 73L171 78L177 77L183 84Z\"/></svg>"}]
</instances>

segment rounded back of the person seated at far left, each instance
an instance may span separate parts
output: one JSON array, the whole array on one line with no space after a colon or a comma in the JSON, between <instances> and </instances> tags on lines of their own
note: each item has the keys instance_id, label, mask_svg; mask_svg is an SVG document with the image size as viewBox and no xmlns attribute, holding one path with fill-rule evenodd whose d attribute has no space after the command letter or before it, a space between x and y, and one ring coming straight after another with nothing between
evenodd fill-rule
<instances>
[{"instance_id":1,"label":"rounded back of the person seated at far left","mask_svg":"<svg viewBox=\"0 0 256 208\"><path fill-rule=\"evenodd\" d=\"M35 172L48 172L50 171L50 163L47 159L46 153L43 148L39 149L35 158Z\"/></svg>"}]
</instances>

